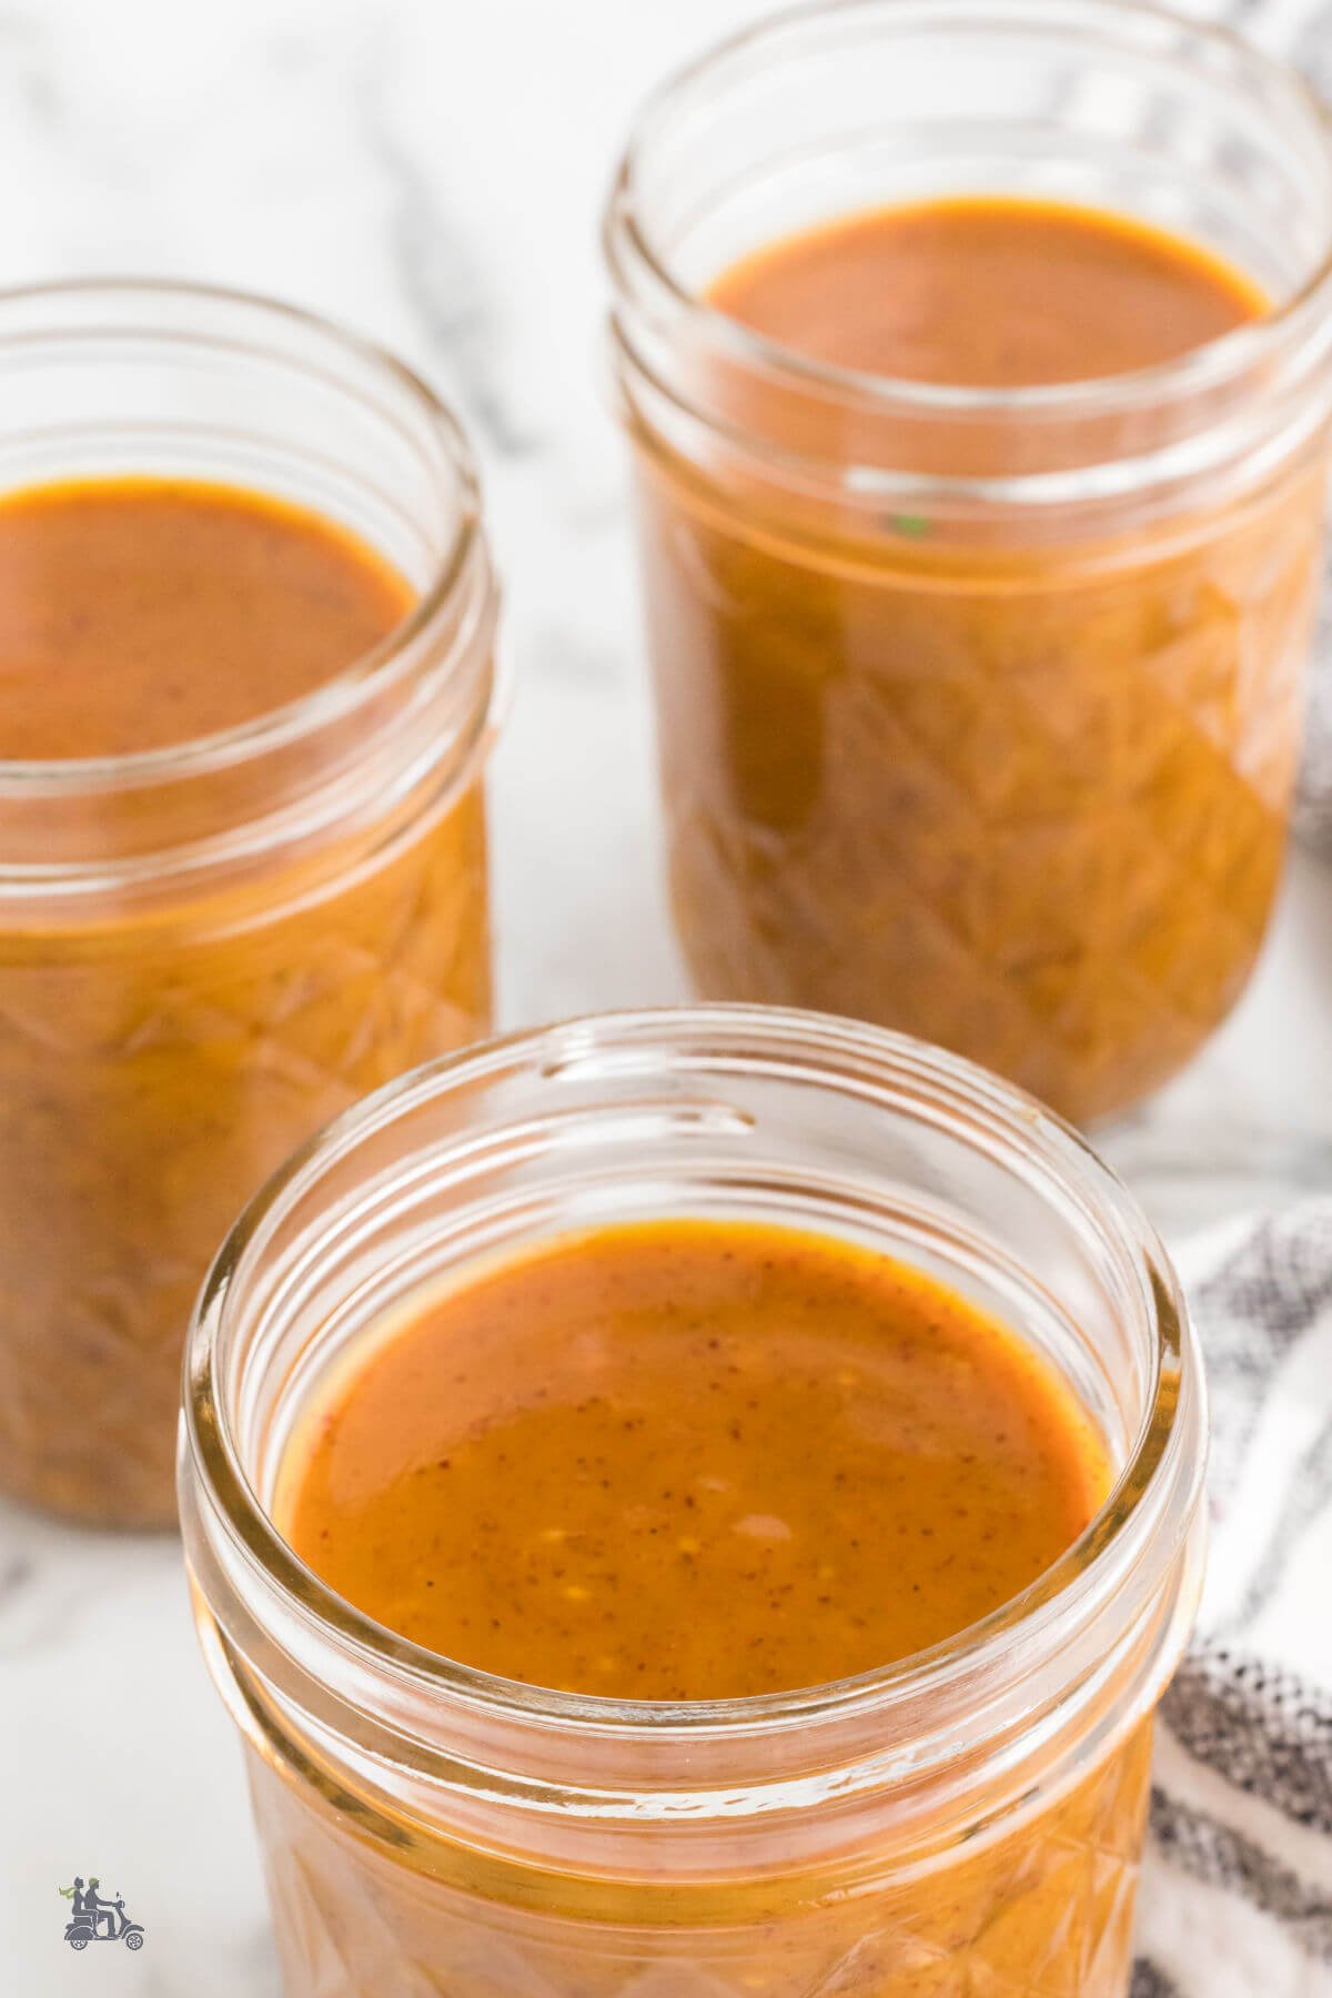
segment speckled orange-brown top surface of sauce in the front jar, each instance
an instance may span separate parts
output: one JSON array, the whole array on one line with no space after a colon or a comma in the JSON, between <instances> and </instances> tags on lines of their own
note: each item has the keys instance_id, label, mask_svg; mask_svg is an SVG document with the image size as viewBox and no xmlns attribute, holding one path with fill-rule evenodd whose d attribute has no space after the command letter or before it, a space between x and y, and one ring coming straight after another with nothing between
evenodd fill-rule
<instances>
[{"instance_id":1,"label":"speckled orange-brown top surface of sauce in the front jar","mask_svg":"<svg viewBox=\"0 0 1332 1998\"><path fill-rule=\"evenodd\" d=\"M961 1297L833 1239L681 1221L565 1237L371 1333L274 1512L435 1652L701 1700L957 1634L1106 1487L1070 1393Z\"/></svg>"}]
</instances>

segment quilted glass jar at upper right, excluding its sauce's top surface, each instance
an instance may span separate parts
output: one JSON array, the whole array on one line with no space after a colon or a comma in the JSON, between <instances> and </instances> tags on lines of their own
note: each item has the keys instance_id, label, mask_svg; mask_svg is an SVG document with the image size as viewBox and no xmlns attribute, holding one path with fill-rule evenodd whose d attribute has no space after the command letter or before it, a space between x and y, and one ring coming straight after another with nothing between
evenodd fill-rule
<instances>
[{"instance_id":1,"label":"quilted glass jar at upper right, excluding its sauce's top surface","mask_svg":"<svg viewBox=\"0 0 1332 1998\"><path fill-rule=\"evenodd\" d=\"M1272 310L991 390L707 304L793 232L967 194L1140 218ZM1332 390L1314 96L1114 0L843 0L649 100L605 248L697 989L919 1033L1076 1121L1154 1089L1244 987L1286 841Z\"/></svg>"}]
</instances>

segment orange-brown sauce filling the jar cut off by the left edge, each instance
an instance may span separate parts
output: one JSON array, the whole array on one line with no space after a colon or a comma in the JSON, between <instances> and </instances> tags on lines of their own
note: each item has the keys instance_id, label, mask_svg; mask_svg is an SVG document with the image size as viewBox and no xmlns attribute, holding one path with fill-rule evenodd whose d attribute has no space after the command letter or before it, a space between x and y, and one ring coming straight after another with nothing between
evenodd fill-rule
<instances>
[{"instance_id":1,"label":"orange-brown sauce filling the jar cut off by the left edge","mask_svg":"<svg viewBox=\"0 0 1332 1998\"><path fill-rule=\"evenodd\" d=\"M0 759L254 723L353 669L413 601L365 541L260 494L18 492L0 501ZM242 819L274 813L266 765L230 783ZM80 809L94 857L100 813L156 851L152 793L90 787ZM234 1215L355 1097L489 1025L481 789L188 887L72 907L2 891L0 1489L168 1524L180 1345Z\"/></svg>"}]
</instances>

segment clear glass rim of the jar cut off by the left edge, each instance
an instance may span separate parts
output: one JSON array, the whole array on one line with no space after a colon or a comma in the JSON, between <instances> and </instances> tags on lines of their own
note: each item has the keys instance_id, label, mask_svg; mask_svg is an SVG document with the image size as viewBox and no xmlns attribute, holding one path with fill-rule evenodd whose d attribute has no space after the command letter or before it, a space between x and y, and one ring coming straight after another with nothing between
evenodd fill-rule
<instances>
[{"instance_id":1,"label":"clear glass rim of the jar cut off by the left edge","mask_svg":"<svg viewBox=\"0 0 1332 1998\"><path fill-rule=\"evenodd\" d=\"M72 278L48 284L24 284L0 288L0 362L8 352L40 346L52 338L68 338L68 330L56 324L28 324L18 332L6 332L2 316L8 308L34 308L44 300L58 306L70 302L142 302L148 316L154 306L198 304L240 308L268 320L272 326L286 326L308 332L339 348L355 362L379 376L389 388L401 394L419 416L421 430L439 448L451 476L457 482L457 519L447 545L431 557L431 573L411 609L375 645L347 661L310 693L284 701L280 707L252 715L248 721L208 735L190 735L178 743L162 743L154 749L130 749L118 755L92 757L0 757L0 797L78 797L120 789L140 789L164 781L186 777L208 777L232 769L252 757L280 751L298 743L304 735L351 715L361 701L387 691L397 671L409 671L409 661L419 639L441 621L451 605L461 577L475 559L481 539L481 486L475 454L467 436L441 398L405 362L397 360L379 342L351 332L349 328L292 306L262 292L246 292L234 286L184 284L168 278L108 276ZM176 348L212 348L230 354L252 354L270 358L256 340L242 340L224 332L190 332L170 326L154 326L146 320L144 336ZM96 332L92 334L96 338ZM330 384L333 378L318 364L304 364ZM343 394L357 394L347 382L333 384Z\"/></svg>"}]
</instances>

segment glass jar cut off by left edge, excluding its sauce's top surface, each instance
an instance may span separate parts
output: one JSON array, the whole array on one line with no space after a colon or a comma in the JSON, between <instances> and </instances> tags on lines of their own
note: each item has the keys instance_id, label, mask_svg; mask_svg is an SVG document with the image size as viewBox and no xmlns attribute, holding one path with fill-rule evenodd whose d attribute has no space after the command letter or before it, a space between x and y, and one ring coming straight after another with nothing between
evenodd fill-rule
<instances>
[{"instance_id":1,"label":"glass jar cut off by left edge, excluding its sauce's top surface","mask_svg":"<svg viewBox=\"0 0 1332 1998\"><path fill-rule=\"evenodd\" d=\"M126 474L298 501L419 591L252 723L0 761L0 1489L140 1526L240 1205L487 1029L495 583L471 452L389 356L220 292L0 296L0 488Z\"/></svg>"}]
</instances>

